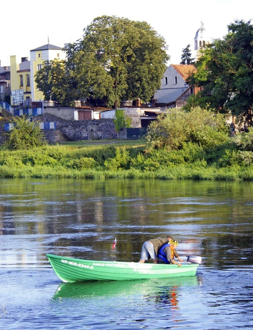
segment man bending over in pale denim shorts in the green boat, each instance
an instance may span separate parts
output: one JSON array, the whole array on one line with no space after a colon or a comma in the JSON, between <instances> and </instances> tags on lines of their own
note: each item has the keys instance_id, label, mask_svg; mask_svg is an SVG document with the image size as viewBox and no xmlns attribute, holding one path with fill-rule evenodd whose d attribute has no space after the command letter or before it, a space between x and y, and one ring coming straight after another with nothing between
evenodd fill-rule
<instances>
[{"instance_id":1,"label":"man bending over in pale denim shorts in the green boat","mask_svg":"<svg viewBox=\"0 0 253 330\"><path fill-rule=\"evenodd\" d=\"M166 236L163 238L155 238L153 240L146 241L142 246L141 259L138 262L144 263L150 257L151 260L154 260L153 263L157 264L157 253L159 251L159 248L164 244L169 243L170 241L172 241L172 238L170 236ZM179 257L176 250L174 250L174 255L176 258L178 258L179 261L183 261L183 259Z\"/></svg>"}]
</instances>

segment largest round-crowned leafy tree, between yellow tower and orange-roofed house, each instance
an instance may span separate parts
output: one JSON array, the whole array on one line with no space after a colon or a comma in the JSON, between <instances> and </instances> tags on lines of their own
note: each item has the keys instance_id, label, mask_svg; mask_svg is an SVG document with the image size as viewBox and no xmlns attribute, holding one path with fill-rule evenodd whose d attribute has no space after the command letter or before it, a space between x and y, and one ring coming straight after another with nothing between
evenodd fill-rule
<instances>
[{"instance_id":1,"label":"largest round-crowned leafy tree, between yellow tower and orange-roofed house","mask_svg":"<svg viewBox=\"0 0 253 330\"><path fill-rule=\"evenodd\" d=\"M164 38L147 22L115 16L95 18L66 51L82 97L104 99L115 108L137 97L148 102L169 59Z\"/></svg>"}]
</instances>

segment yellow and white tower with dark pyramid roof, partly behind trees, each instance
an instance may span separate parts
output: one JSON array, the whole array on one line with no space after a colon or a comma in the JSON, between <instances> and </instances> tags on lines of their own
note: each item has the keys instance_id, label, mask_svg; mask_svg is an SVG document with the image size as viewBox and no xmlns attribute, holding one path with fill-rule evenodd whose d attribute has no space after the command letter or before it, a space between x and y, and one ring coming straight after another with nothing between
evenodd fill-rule
<instances>
[{"instance_id":1,"label":"yellow and white tower with dark pyramid roof, partly behind trees","mask_svg":"<svg viewBox=\"0 0 253 330\"><path fill-rule=\"evenodd\" d=\"M31 67L31 98L32 101L42 101L44 100L44 95L36 87L34 82L35 73L42 68L44 61L50 61L53 59L65 59L65 52L63 48L50 45L49 43L30 50L30 67Z\"/></svg>"}]
</instances>

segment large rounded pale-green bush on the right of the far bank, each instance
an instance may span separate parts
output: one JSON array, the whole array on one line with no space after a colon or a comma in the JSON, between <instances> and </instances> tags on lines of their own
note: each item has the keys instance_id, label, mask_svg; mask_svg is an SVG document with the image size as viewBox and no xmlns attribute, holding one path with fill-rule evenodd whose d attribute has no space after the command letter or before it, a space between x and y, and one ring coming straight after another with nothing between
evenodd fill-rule
<instances>
[{"instance_id":1,"label":"large rounded pale-green bush on the right of the far bank","mask_svg":"<svg viewBox=\"0 0 253 330\"><path fill-rule=\"evenodd\" d=\"M222 115L193 108L190 112L171 110L149 125L147 140L150 148L180 149L184 142L202 147L214 147L228 137L228 127Z\"/></svg>"}]
</instances>

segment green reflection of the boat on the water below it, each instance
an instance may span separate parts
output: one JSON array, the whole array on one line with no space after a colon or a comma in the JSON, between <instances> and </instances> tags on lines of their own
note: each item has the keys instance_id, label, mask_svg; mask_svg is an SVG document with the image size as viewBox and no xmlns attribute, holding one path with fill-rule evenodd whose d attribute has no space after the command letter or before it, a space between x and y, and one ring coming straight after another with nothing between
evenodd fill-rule
<instances>
[{"instance_id":1,"label":"green reflection of the boat on the water below it","mask_svg":"<svg viewBox=\"0 0 253 330\"><path fill-rule=\"evenodd\" d=\"M181 287L196 287L196 276L133 281L88 281L62 283L57 288L53 299L90 299L96 297L142 296L144 299L155 298L162 302L171 300L175 304Z\"/></svg>"}]
</instances>

